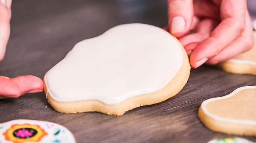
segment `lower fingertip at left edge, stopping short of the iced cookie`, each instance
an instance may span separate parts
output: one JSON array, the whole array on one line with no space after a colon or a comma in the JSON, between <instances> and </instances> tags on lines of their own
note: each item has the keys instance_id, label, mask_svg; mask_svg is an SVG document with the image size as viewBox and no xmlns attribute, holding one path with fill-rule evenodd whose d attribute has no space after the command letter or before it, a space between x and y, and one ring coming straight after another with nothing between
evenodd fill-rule
<instances>
[{"instance_id":1,"label":"lower fingertip at left edge, stopping short of the iced cookie","mask_svg":"<svg viewBox=\"0 0 256 143\"><path fill-rule=\"evenodd\" d=\"M0 95L17 98L20 96L20 87L10 79L0 78Z\"/></svg>"}]
</instances>

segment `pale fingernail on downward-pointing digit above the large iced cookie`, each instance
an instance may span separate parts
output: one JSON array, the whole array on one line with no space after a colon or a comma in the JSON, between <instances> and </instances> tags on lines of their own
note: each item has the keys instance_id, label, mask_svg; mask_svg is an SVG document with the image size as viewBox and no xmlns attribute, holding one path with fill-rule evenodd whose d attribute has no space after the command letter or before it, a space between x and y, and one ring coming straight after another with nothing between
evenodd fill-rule
<instances>
[{"instance_id":1,"label":"pale fingernail on downward-pointing digit above the large iced cookie","mask_svg":"<svg viewBox=\"0 0 256 143\"><path fill-rule=\"evenodd\" d=\"M179 33L183 32L185 30L185 20L181 16L176 16L172 18L172 23L171 23L171 33Z\"/></svg>"}]
</instances>

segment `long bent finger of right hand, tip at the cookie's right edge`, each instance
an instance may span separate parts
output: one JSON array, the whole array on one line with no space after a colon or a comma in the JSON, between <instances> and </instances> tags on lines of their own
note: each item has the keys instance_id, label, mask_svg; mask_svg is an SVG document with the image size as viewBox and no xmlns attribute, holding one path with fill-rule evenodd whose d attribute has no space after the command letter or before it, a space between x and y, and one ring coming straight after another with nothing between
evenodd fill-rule
<instances>
[{"instance_id":1,"label":"long bent finger of right hand, tip at the cookie's right edge","mask_svg":"<svg viewBox=\"0 0 256 143\"><path fill-rule=\"evenodd\" d=\"M208 59L218 55L245 29L246 0L222 0L221 23L210 36L201 42L190 56L191 67L197 68Z\"/></svg>"}]
</instances>

